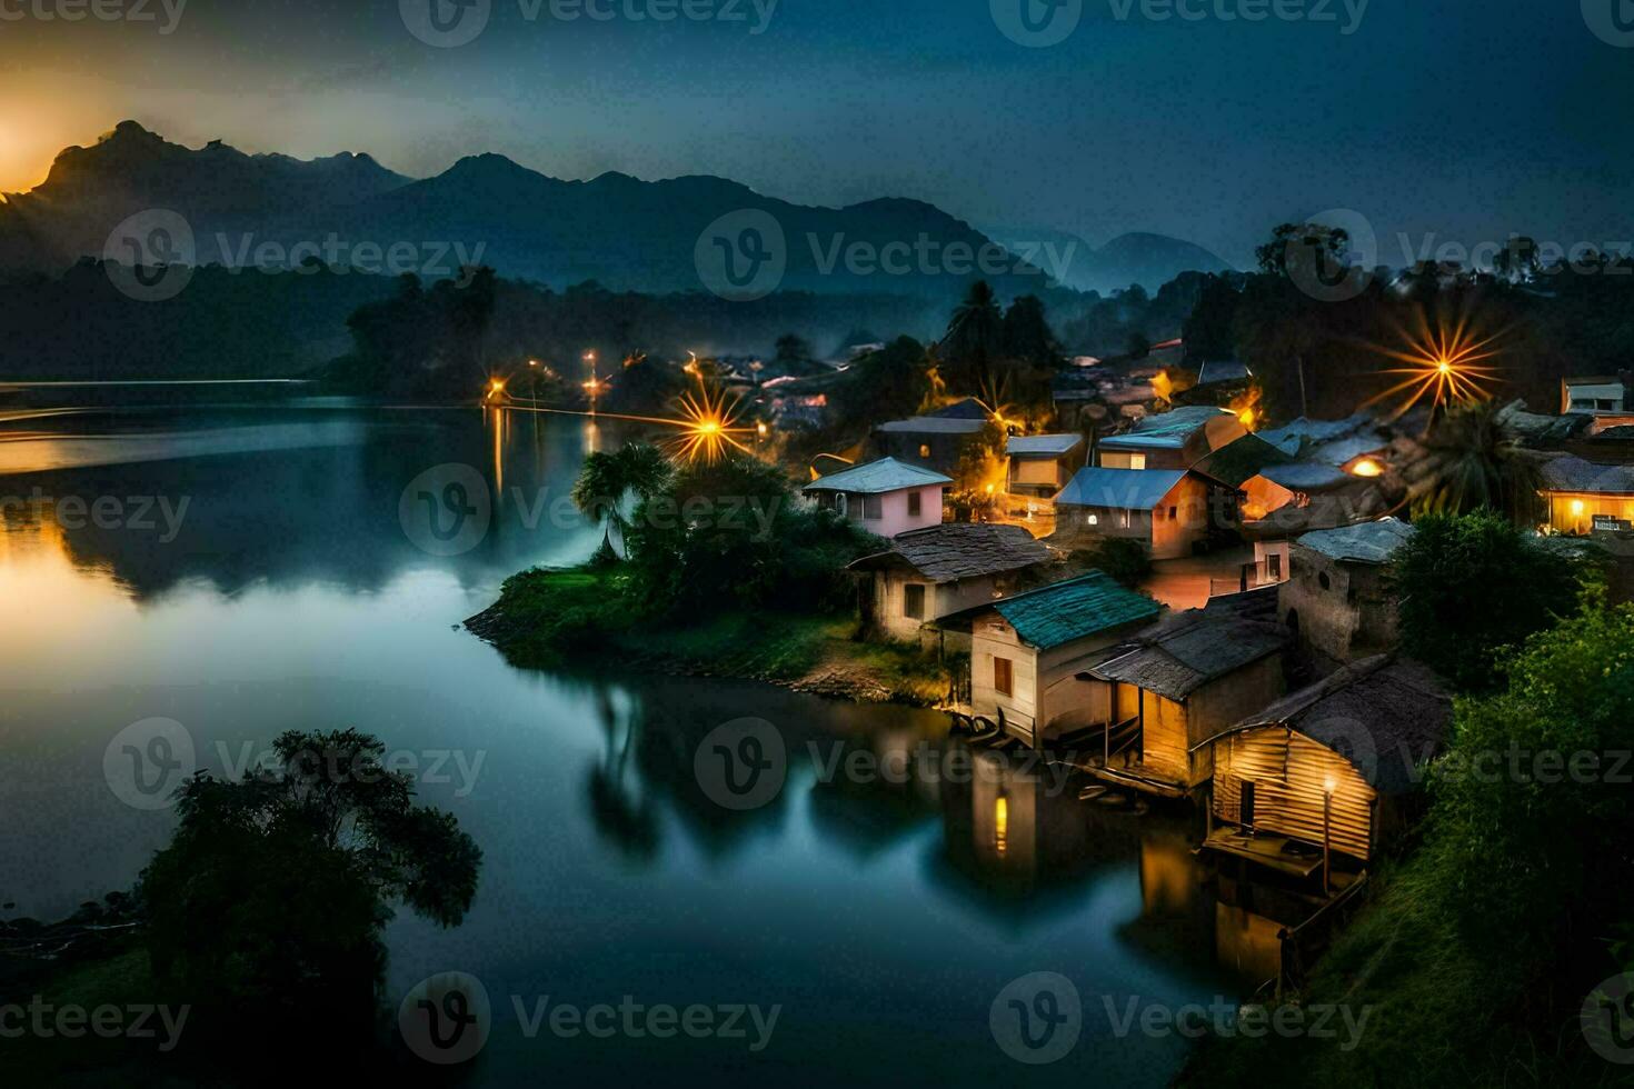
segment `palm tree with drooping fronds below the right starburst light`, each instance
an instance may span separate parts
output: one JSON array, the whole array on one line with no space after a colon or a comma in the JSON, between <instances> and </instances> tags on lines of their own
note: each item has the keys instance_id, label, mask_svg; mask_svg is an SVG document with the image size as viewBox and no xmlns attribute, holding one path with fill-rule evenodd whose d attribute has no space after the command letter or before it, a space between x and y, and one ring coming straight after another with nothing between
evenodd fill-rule
<instances>
[{"instance_id":1,"label":"palm tree with drooping fronds below the right starburst light","mask_svg":"<svg viewBox=\"0 0 1634 1089\"><path fill-rule=\"evenodd\" d=\"M1505 423L1497 402L1479 402L1441 416L1407 480L1413 513L1467 514L1482 506L1516 526L1542 521L1542 470Z\"/></svg>"}]
</instances>

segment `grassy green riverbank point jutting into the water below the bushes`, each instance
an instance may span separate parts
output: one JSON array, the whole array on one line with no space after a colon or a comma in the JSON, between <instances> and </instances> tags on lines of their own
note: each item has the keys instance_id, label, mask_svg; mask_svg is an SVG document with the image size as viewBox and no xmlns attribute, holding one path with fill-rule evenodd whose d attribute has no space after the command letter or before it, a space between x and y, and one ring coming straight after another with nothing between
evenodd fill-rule
<instances>
[{"instance_id":1,"label":"grassy green riverbank point jutting into the water below the bushes","mask_svg":"<svg viewBox=\"0 0 1634 1089\"><path fill-rule=\"evenodd\" d=\"M935 707L953 673L905 643L858 638L846 616L724 609L696 622L644 616L618 567L533 570L466 620L518 668L616 660L652 673L763 681L858 702Z\"/></svg>"}]
</instances>

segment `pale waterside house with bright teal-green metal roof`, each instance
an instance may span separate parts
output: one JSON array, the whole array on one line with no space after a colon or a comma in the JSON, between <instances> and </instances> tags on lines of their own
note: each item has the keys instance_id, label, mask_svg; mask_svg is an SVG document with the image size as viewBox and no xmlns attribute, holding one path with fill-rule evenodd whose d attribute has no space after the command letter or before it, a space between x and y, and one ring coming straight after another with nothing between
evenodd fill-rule
<instances>
[{"instance_id":1,"label":"pale waterside house with bright teal-green metal roof","mask_svg":"<svg viewBox=\"0 0 1634 1089\"><path fill-rule=\"evenodd\" d=\"M1041 741L1085 723L1077 674L1163 606L1090 571L943 617L971 633L972 713Z\"/></svg>"}]
</instances>

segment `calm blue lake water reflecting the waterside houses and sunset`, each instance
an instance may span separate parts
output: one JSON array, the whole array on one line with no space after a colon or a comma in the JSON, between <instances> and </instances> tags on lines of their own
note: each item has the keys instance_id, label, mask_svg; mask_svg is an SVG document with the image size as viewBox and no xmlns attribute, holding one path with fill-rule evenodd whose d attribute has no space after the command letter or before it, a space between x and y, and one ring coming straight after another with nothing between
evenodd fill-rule
<instances>
[{"instance_id":1,"label":"calm blue lake water reflecting the waterside houses and sunset","mask_svg":"<svg viewBox=\"0 0 1634 1089\"><path fill-rule=\"evenodd\" d=\"M60 918L129 887L167 841L173 816L126 805L105 776L131 723L183 723L194 762L217 772L281 730L358 727L418 761L422 798L485 852L464 926L402 914L389 929L394 1007L438 971L489 989L493 1035L462 1084L1165 1084L1186 1043L1116 1038L1106 1004L1235 998L1275 971L1275 924L1221 903L1188 821L1119 816L1016 769L824 782L810 746L941 751L946 720L616 663L520 671L458 629L505 576L592 552L598 531L554 501L588 447L619 438L325 402L13 411L0 421L0 500L20 500L0 522L0 901ZM399 519L405 487L444 464L502 496L458 557L422 550ZM106 506L106 524L82 524L70 496L111 496L131 518L144 500L186 508L167 542L158 503L142 529ZM730 813L701 792L693 754L742 717L775 723L792 767L776 802ZM989 1029L1000 989L1033 971L1083 998L1083 1035L1051 1066L1011 1061ZM510 996L783 1011L750 1053L528 1040Z\"/></svg>"}]
</instances>

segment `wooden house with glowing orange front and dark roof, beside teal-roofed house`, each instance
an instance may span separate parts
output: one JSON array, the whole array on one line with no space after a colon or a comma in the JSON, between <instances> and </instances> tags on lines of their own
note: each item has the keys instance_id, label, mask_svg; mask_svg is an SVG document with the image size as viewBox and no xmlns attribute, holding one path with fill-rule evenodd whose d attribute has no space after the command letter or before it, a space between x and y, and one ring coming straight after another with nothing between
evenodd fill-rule
<instances>
[{"instance_id":1,"label":"wooden house with glowing orange front and dark roof, beside teal-roofed house","mask_svg":"<svg viewBox=\"0 0 1634 1089\"><path fill-rule=\"evenodd\" d=\"M1106 651L1078 674L1100 727L1096 774L1168 797L1208 782L1212 766L1198 745L1284 692L1288 643L1266 588L1165 617Z\"/></svg>"}]
</instances>

